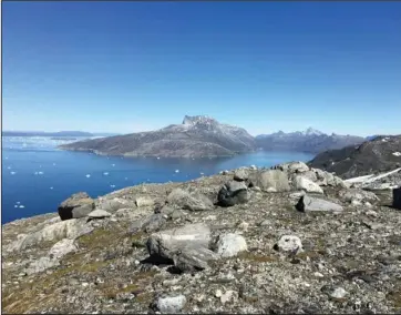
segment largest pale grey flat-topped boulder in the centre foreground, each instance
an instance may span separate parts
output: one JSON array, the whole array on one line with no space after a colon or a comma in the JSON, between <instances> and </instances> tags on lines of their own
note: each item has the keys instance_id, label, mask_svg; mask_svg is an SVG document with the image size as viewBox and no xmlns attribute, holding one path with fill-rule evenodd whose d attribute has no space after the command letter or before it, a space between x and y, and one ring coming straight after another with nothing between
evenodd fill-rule
<instances>
[{"instance_id":1,"label":"largest pale grey flat-topped boulder in the centre foreground","mask_svg":"<svg viewBox=\"0 0 401 315\"><path fill-rule=\"evenodd\" d=\"M150 236L146 243L150 255L173 258L184 247L208 248L210 228L203 223L187 224L182 227L161 231Z\"/></svg>"}]
</instances>

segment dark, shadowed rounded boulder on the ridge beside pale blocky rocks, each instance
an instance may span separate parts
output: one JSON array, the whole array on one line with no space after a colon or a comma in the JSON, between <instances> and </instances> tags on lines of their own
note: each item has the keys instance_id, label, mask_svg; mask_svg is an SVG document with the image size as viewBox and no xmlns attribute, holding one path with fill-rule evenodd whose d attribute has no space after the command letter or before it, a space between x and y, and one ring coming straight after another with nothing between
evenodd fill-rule
<instances>
[{"instance_id":1,"label":"dark, shadowed rounded boulder on the ridge beside pale blocky rocks","mask_svg":"<svg viewBox=\"0 0 401 315\"><path fill-rule=\"evenodd\" d=\"M226 183L217 195L218 205L233 206L249 201L249 192L244 182L232 181Z\"/></svg>"}]
</instances>

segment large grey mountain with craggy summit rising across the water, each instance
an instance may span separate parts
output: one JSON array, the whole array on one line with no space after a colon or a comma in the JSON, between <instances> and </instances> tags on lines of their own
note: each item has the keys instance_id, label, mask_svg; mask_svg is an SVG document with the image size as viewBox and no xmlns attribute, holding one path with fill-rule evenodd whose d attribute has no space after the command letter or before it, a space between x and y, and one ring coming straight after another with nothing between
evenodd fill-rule
<instances>
[{"instance_id":1,"label":"large grey mountain with craggy summit rising across the water","mask_svg":"<svg viewBox=\"0 0 401 315\"><path fill-rule=\"evenodd\" d=\"M182 124L157 131L80 141L60 148L126 156L228 156L255 150L255 140L241 128L222 124L208 116L186 115Z\"/></svg>"}]
</instances>

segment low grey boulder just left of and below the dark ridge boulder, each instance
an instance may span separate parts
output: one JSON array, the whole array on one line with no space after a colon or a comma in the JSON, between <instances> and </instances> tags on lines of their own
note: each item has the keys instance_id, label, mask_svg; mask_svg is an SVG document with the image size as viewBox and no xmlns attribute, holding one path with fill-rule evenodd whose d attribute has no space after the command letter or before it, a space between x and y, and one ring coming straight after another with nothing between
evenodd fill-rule
<instances>
[{"instance_id":1,"label":"low grey boulder just left of and below the dark ridge boulder","mask_svg":"<svg viewBox=\"0 0 401 315\"><path fill-rule=\"evenodd\" d=\"M213 202L202 193L187 192L182 189L173 190L167 196L167 202L171 205L179 206L191 211L207 211L213 210Z\"/></svg>"}]
</instances>

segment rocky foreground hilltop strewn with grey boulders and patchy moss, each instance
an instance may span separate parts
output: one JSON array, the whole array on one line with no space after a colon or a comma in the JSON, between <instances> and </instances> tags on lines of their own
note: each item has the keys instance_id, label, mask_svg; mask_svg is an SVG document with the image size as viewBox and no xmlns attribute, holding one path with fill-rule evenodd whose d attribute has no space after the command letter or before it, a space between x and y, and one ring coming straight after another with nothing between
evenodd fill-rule
<instances>
[{"instance_id":1,"label":"rocky foreground hilltop strewn with grey boulders and patchy moss","mask_svg":"<svg viewBox=\"0 0 401 315\"><path fill-rule=\"evenodd\" d=\"M3 225L2 312L399 313L397 191L292 162L78 193Z\"/></svg>"}]
</instances>

